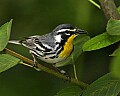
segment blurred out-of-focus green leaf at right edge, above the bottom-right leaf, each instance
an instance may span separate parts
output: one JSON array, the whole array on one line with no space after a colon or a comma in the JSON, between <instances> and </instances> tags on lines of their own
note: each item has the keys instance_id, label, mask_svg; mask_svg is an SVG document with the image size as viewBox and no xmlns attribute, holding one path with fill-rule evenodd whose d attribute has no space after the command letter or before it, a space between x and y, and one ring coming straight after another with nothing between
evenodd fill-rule
<instances>
[{"instance_id":1,"label":"blurred out-of-focus green leaf at right edge, above the bottom-right leaf","mask_svg":"<svg viewBox=\"0 0 120 96\"><path fill-rule=\"evenodd\" d=\"M120 48L116 50L116 56L111 62L111 72L115 77L120 78Z\"/></svg>"}]
</instances>

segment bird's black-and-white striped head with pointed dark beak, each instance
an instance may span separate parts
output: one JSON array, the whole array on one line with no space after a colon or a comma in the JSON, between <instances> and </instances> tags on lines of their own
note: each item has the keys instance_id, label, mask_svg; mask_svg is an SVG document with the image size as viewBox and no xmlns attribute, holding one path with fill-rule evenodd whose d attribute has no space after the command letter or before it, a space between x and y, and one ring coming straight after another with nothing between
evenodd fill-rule
<instances>
[{"instance_id":1,"label":"bird's black-and-white striped head with pointed dark beak","mask_svg":"<svg viewBox=\"0 0 120 96\"><path fill-rule=\"evenodd\" d=\"M87 32L71 24L61 24L53 30L53 33L55 34L56 41L61 42L61 40L66 41L70 37L74 39L77 35L86 34Z\"/></svg>"}]
</instances>

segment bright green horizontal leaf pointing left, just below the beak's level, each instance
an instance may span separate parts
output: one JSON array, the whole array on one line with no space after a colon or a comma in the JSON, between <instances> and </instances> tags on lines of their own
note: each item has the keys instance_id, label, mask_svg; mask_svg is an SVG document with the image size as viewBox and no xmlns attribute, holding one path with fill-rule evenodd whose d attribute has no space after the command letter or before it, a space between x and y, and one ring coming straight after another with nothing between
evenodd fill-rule
<instances>
[{"instance_id":1,"label":"bright green horizontal leaf pointing left, just below the beak's level","mask_svg":"<svg viewBox=\"0 0 120 96\"><path fill-rule=\"evenodd\" d=\"M97 35L83 45L83 51L98 50L120 41L120 36L111 36L107 32Z\"/></svg>"}]
</instances>

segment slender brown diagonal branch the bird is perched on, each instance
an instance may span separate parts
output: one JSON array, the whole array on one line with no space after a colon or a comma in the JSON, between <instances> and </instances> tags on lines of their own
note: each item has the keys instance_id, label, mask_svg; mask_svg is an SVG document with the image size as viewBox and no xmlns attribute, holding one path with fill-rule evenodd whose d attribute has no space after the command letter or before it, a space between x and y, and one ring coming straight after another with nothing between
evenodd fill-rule
<instances>
[{"instance_id":1,"label":"slender brown diagonal branch the bird is perched on","mask_svg":"<svg viewBox=\"0 0 120 96\"><path fill-rule=\"evenodd\" d=\"M12 56L14 56L14 57L17 57L17 58L19 58L20 60L28 63L30 66L33 66L33 64L34 64L34 62L33 62L32 60L30 60L30 59L28 59L28 58L26 58L26 57L24 57L24 56L22 56L22 55L20 55L20 54L18 54L18 53L16 53L16 52L12 51L12 50L10 50L10 49L5 48L5 52L6 52L7 54L10 54L10 55L12 55ZM23 63L23 64L24 64L24 63ZM26 64L25 64L25 65L26 65ZM75 78L69 79L68 77L66 77L66 75L63 75L63 74L61 74L61 73L59 73L59 72L56 72L55 70L50 69L50 68L48 68L48 67L46 67L46 66L44 66L44 65L42 65L42 64L38 64L37 66L38 66L38 68L41 69L42 71L45 71L45 72L47 72L47 73L49 73L49 74L52 74L52 75L55 75L55 76L57 76L57 77L59 77L59 78L61 78L61 79L64 79L64 80L67 80L67 81L70 81L70 82L72 82L72 83L74 83L74 84L79 85L82 89L85 89L85 88L88 86L88 84L86 84L86 83L84 83L84 82L82 82L82 81L78 81L78 80L76 80Z\"/></svg>"}]
</instances>

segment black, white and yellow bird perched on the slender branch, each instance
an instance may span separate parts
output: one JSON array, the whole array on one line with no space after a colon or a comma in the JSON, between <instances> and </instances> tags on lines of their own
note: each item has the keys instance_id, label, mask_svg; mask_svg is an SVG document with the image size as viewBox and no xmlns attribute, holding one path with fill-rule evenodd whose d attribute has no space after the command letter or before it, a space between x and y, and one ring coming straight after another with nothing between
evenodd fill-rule
<instances>
[{"instance_id":1,"label":"black, white and yellow bird perched on the slender branch","mask_svg":"<svg viewBox=\"0 0 120 96\"><path fill-rule=\"evenodd\" d=\"M66 60L74 49L73 40L80 34L86 34L72 24L60 24L52 32L44 35L34 35L22 40L10 40L9 43L25 46L34 59L36 57L44 62L55 65Z\"/></svg>"}]
</instances>

